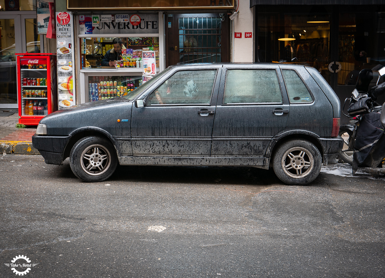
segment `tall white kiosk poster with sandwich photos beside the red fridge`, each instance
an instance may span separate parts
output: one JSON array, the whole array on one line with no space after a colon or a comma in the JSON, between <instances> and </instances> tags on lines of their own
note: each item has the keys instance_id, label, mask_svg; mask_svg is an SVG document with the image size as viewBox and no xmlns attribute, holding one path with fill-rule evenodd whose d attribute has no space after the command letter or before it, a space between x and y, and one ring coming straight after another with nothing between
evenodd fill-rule
<instances>
[{"instance_id":1,"label":"tall white kiosk poster with sandwich photos beside the red fridge","mask_svg":"<svg viewBox=\"0 0 385 278\"><path fill-rule=\"evenodd\" d=\"M74 72L74 21L71 12L56 13L58 108L76 104Z\"/></svg>"}]
</instances>

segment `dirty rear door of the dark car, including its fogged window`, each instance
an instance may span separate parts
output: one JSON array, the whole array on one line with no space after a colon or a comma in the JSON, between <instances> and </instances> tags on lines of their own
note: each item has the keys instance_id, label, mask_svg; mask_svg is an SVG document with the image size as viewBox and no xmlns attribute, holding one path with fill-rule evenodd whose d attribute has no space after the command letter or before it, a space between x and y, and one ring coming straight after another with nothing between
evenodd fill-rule
<instances>
[{"instance_id":1,"label":"dirty rear door of the dark car, including its fogged window","mask_svg":"<svg viewBox=\"0 0 385 278\"><path fill-rule=\"evenodd\" d=\"M289 103L276 65L227 65L222 70L212 156L263 157L286 127Z\"/></svg>"}]
</instances>

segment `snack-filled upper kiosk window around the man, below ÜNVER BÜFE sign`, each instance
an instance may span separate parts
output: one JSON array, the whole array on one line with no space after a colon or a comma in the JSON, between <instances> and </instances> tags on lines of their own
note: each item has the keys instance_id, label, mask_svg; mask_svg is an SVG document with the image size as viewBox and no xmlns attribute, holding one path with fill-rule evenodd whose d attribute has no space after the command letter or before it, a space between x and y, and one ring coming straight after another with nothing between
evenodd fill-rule
<instances>
[{"instance_id":1,"label":"snack-filled upper kiosk window around the man, below \u00dcNVER B\u00dcFE sign","mask_svg":"<svg viewBox=\"0 0 385 278\"><path fill-rule=\"evenodd\" d=\"M114 68L102 65L104 55L114 48L110 37L80 38L82 68ZM159 38L158 37L121 37L124 50L116 61L120 68L141 68L142 52L155 51L156 67L159 68Z\"/></svg>"}]
</instances>

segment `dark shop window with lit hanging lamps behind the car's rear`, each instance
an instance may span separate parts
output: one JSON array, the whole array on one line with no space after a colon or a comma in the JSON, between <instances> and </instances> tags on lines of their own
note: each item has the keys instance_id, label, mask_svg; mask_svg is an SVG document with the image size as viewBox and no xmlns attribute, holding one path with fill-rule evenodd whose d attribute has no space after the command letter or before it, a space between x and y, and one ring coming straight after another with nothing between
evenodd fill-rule
<instances>
[{"instance_id":1,"label":"dark shop window with lit hanging lamps behind the car's rear","mask_svg":"<svg viewBox=\"0 0 385 278\"><path fill-rule=\"evenodd\" d=\"M309 7L303 14L287 9L258 11L258 60L315 67L330 83L331 12Z\"/></svg>"}]
</instances>

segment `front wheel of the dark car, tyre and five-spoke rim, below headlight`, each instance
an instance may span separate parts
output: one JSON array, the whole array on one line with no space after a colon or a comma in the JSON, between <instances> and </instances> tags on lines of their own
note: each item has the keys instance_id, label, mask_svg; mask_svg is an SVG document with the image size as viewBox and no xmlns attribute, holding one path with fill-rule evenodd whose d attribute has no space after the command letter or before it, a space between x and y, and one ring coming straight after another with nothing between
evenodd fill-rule
<instances>
[{"instance_id":1,"label":"front wheel of the dark car, tyre and five-spoke rim, below headlight","mask_svg":"<svg viewBox=\"0 0 385 278\"><path fill-rule=\"evenodd\" d=\"M77 141L70 152L70 166L75 176L87 182L104 181L114 173L118 159L112 143L90 136Z\"/></svg>"}]
</instances>

